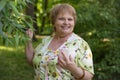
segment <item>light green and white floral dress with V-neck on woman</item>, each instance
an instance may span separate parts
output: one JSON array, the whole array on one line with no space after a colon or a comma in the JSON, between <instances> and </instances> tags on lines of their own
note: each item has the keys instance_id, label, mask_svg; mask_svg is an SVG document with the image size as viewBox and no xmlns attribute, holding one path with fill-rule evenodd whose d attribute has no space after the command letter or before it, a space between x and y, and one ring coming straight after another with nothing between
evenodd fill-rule
<instances>
[{"instance_id":1,"label":"light green and white floral dress with V-neck on woman","mask_svg":"<svg viewBox=\"0 0 120 80\"><path fill-rule=\"evenodd\" d=\"M67 50L67 54L74 58L79 67L94 74L92 52L86 41L73 33L56 51L52 51L48 49L52 39L52 36L46 37L35 49L33 58L35 80L75 80L70 71L57 65L57 55L61 53L61 49Z\"/></svg>"}]
</instances>

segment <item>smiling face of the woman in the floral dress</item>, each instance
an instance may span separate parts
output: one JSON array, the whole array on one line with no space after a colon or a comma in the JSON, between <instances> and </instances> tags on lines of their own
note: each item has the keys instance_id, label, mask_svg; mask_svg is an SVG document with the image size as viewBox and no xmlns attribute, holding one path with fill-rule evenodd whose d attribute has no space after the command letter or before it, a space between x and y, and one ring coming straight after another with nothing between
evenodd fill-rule
<instances>
[{"instance_id":1,"label":"smiling face of the woman in the floral dress","mask_svg":"<svg viewBox=\"0 0 120 80\"><path fill-rule=\"evenodd\" d=\"M57 35L67 35L73 32L74 17L70 13L58 14L54 27Z\"/></svg>"}]
</instances>

